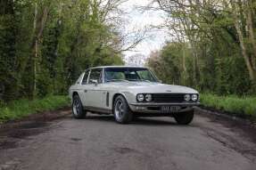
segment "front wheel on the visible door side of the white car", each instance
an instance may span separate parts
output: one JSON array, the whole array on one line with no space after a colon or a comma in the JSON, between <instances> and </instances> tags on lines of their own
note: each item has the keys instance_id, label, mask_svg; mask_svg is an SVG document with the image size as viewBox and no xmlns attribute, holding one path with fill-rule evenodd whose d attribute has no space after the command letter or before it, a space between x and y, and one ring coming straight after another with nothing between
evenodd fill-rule
<instances>
[{"instance_id":1,"label":"front wheel on the visible door side of the white car","mask_svg":"<svg viewBox=\"0 0 256 170\"><path fill-rule=\"evenodd\" d=\"M112 111L115 120L120 124L128 124L133 118L128 102L122 95L115 98Z\"/></svg>"}]
</instances>

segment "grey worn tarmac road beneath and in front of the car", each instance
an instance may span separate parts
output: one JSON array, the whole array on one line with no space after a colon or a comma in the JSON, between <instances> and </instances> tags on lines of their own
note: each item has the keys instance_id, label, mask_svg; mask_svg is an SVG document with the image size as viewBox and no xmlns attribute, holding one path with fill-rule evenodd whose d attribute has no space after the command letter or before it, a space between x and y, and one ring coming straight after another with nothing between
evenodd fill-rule
<instances>
[{"instance_id":1,"label":"grey worn tarmac road beneath and in front of the car","mask_svg":"<svg viewBox=\"0 0 256 170\"><path fill-rule=\"evenodd\" d=\"M255 170L253 140L201 114L186 126L170 117L119 125L111 116L67 116L2 129L0 170Z\"/></svg>"}]
</instances>

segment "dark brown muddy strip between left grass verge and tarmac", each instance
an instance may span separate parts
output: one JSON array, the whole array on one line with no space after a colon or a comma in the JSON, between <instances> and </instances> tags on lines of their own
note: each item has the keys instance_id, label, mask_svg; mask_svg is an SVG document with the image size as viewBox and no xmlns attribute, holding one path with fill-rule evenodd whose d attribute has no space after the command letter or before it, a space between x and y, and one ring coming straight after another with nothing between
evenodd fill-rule
<instances>
[{"instance_id":1,"label":"dark brown muddy strip between left grass verge and tarmac","mask_svg":"<svg viewBox=\"0 0 256 170\"><path fill-rule=\"evenodd\" d=\"M17 147L21 139L49 130L51 121L70 115L70 108L45 111L0 125L0 150Z\"/></svg>"}]
</instances>

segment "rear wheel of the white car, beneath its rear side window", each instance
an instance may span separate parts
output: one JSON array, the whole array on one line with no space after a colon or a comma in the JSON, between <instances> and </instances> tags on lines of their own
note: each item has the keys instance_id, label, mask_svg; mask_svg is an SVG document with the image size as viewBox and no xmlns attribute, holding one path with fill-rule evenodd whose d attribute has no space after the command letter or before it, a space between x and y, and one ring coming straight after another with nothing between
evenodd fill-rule
<instances>
[{"instance_id":1,"label":"rear wheel of the white car, beneath its rear side window","mask_svg":"<svg viewBox=\"0 0 256 170\"><path fill-rule=\"evenodd\" d=\"M84 110L82 102L81 102L78 94L75 94L73 96L72 115L74 118L84 118L87 116L87 111Z\"/></svg>"}]
</instances>

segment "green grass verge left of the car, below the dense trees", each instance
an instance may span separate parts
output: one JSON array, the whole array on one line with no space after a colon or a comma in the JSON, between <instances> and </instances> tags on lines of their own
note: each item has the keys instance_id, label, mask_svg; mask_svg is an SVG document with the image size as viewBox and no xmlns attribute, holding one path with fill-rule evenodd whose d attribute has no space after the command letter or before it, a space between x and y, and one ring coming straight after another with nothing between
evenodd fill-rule
<instances>
[{"instance_id":1,"label":"green grass verge left of the car, below the dense trees","mask_svg":"<svg viewBox=\"0 0 256 170\"><path fill-rule=\"evenodd\" d=\"M69 103L70 101L68 97L62 95L51 95L43 99L36 99L33 101L29 101L27 99L12 101L0 108L0 123L26 117L46 110L60 109L64 106L68 106Z\"/></svg>"}]
</instances>

